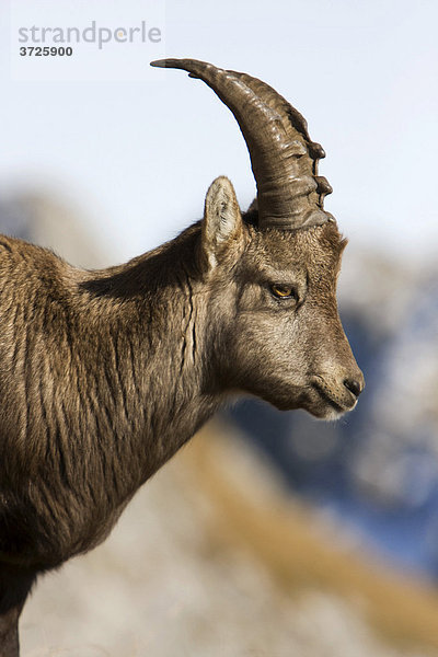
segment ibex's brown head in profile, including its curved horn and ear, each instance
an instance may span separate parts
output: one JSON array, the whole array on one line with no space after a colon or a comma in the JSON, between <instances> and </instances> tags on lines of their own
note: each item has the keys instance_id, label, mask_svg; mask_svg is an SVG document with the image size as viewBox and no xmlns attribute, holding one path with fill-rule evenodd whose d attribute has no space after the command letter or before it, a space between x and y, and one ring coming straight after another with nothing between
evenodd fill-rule
<instances>
[{"instance_id":1,"label":"ibex's brown head in profile, including its curved horn and ear","mask_svg":"<svg viewBox=\"0 0 438 657\"><path fill-rule=\"evenodd\" d=\"M243 216L228 178L206 197L199 261L208 286L199 290L217 385L321 418L351 410L364 376L337 312L345 240L323 208L332 189L318 175L322 147L261 80L193 59L152 65L187 70L217 93L239 123L257 184Z\"/></svg>"}]
</instances>

